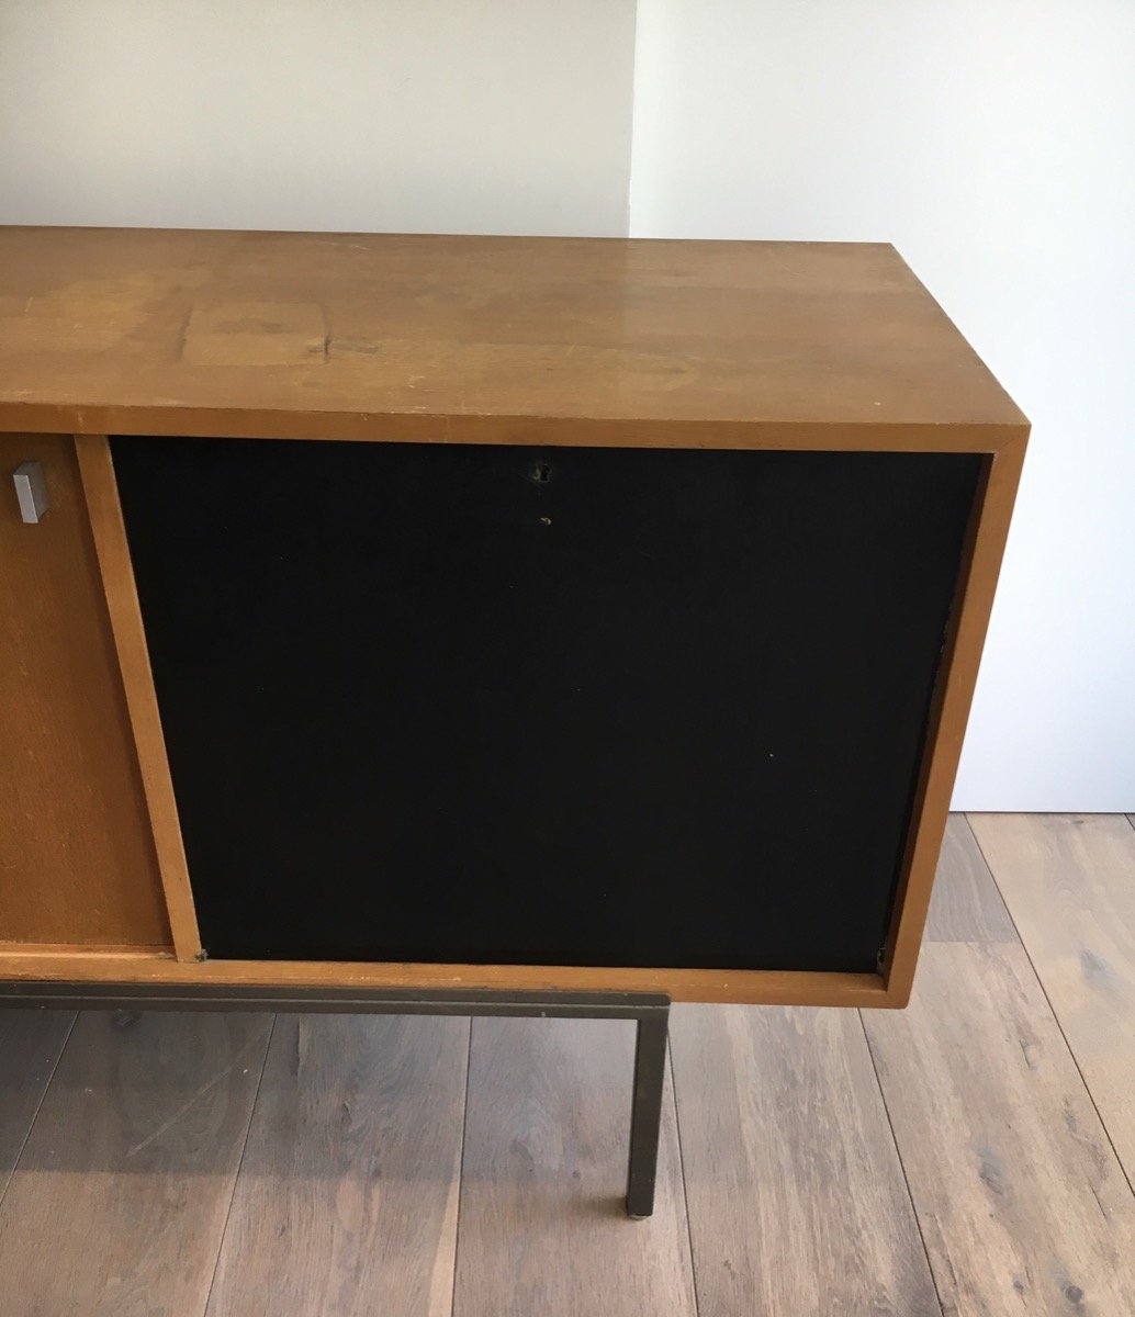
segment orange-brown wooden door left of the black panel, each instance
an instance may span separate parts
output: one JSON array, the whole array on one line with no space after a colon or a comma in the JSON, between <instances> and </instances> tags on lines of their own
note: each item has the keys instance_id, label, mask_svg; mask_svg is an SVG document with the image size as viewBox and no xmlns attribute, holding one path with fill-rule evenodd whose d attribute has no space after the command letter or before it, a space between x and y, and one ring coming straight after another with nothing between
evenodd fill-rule
<instances>
[{"instance_id":1,"label":"orange-brown wooden door left of the black panel","mask_svg":"<svg viewBox=\"0 0 1135 1317\"><path fill-rule=\"evenodd\" d=\"M21 520L37 462L47 510ZM74 440L0 435L0 942L167 946Z\"/></svg>"}]
</instances>

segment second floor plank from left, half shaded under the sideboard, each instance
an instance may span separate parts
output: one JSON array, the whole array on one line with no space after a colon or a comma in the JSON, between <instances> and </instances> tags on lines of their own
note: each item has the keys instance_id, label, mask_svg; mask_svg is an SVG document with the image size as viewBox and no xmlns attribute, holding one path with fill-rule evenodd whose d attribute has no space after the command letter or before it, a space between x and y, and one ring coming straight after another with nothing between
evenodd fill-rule
<instances>
[{"instance_id":1,"label":"second floor plank from left, half shaded under the sideboard","mask_svg":"<svg viewBox=\"0 0 1135 1317\"><path fill-rule=\"evenodd\" d=\"M4 1317L204 1312L270 1027L79 1015L0 1205Z\"/></svg>"}]
</instances>

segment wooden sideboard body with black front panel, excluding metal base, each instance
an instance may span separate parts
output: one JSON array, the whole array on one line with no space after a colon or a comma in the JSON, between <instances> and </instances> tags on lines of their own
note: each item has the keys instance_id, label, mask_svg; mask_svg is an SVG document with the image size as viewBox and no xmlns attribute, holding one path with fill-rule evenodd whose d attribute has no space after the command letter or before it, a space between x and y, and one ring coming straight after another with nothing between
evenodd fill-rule
<instances>
[{"instance_id":1,"label":"wooden sideboard body with black front panel, excluding metal base","mask_svg":"<svg viewBox=\"0 0 1135 1317\"><path fill-rule=\"evenodd\" d=\"M890 246L0 270L0 979L906 1001L1028 425Z\"/></svg>"}]
</instances>

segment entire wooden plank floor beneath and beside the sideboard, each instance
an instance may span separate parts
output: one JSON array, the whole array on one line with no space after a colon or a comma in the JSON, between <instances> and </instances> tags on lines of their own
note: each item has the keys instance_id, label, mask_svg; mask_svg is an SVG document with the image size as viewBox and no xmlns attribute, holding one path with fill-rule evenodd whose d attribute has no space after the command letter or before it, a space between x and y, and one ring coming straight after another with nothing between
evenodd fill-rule
<instances>
[{"instance_id":1,"label":"entire wooden plank floor beneath and beside the sideboard","mask_svg":"<svg viewBox=\"0 0 1135 1317\"><path fill-rule=\"evenodd\" d=\"M1135 826L951 820L906 1011L0 1013L4 1317L1135 1314Z\"/></svg>"}]
</instances>

